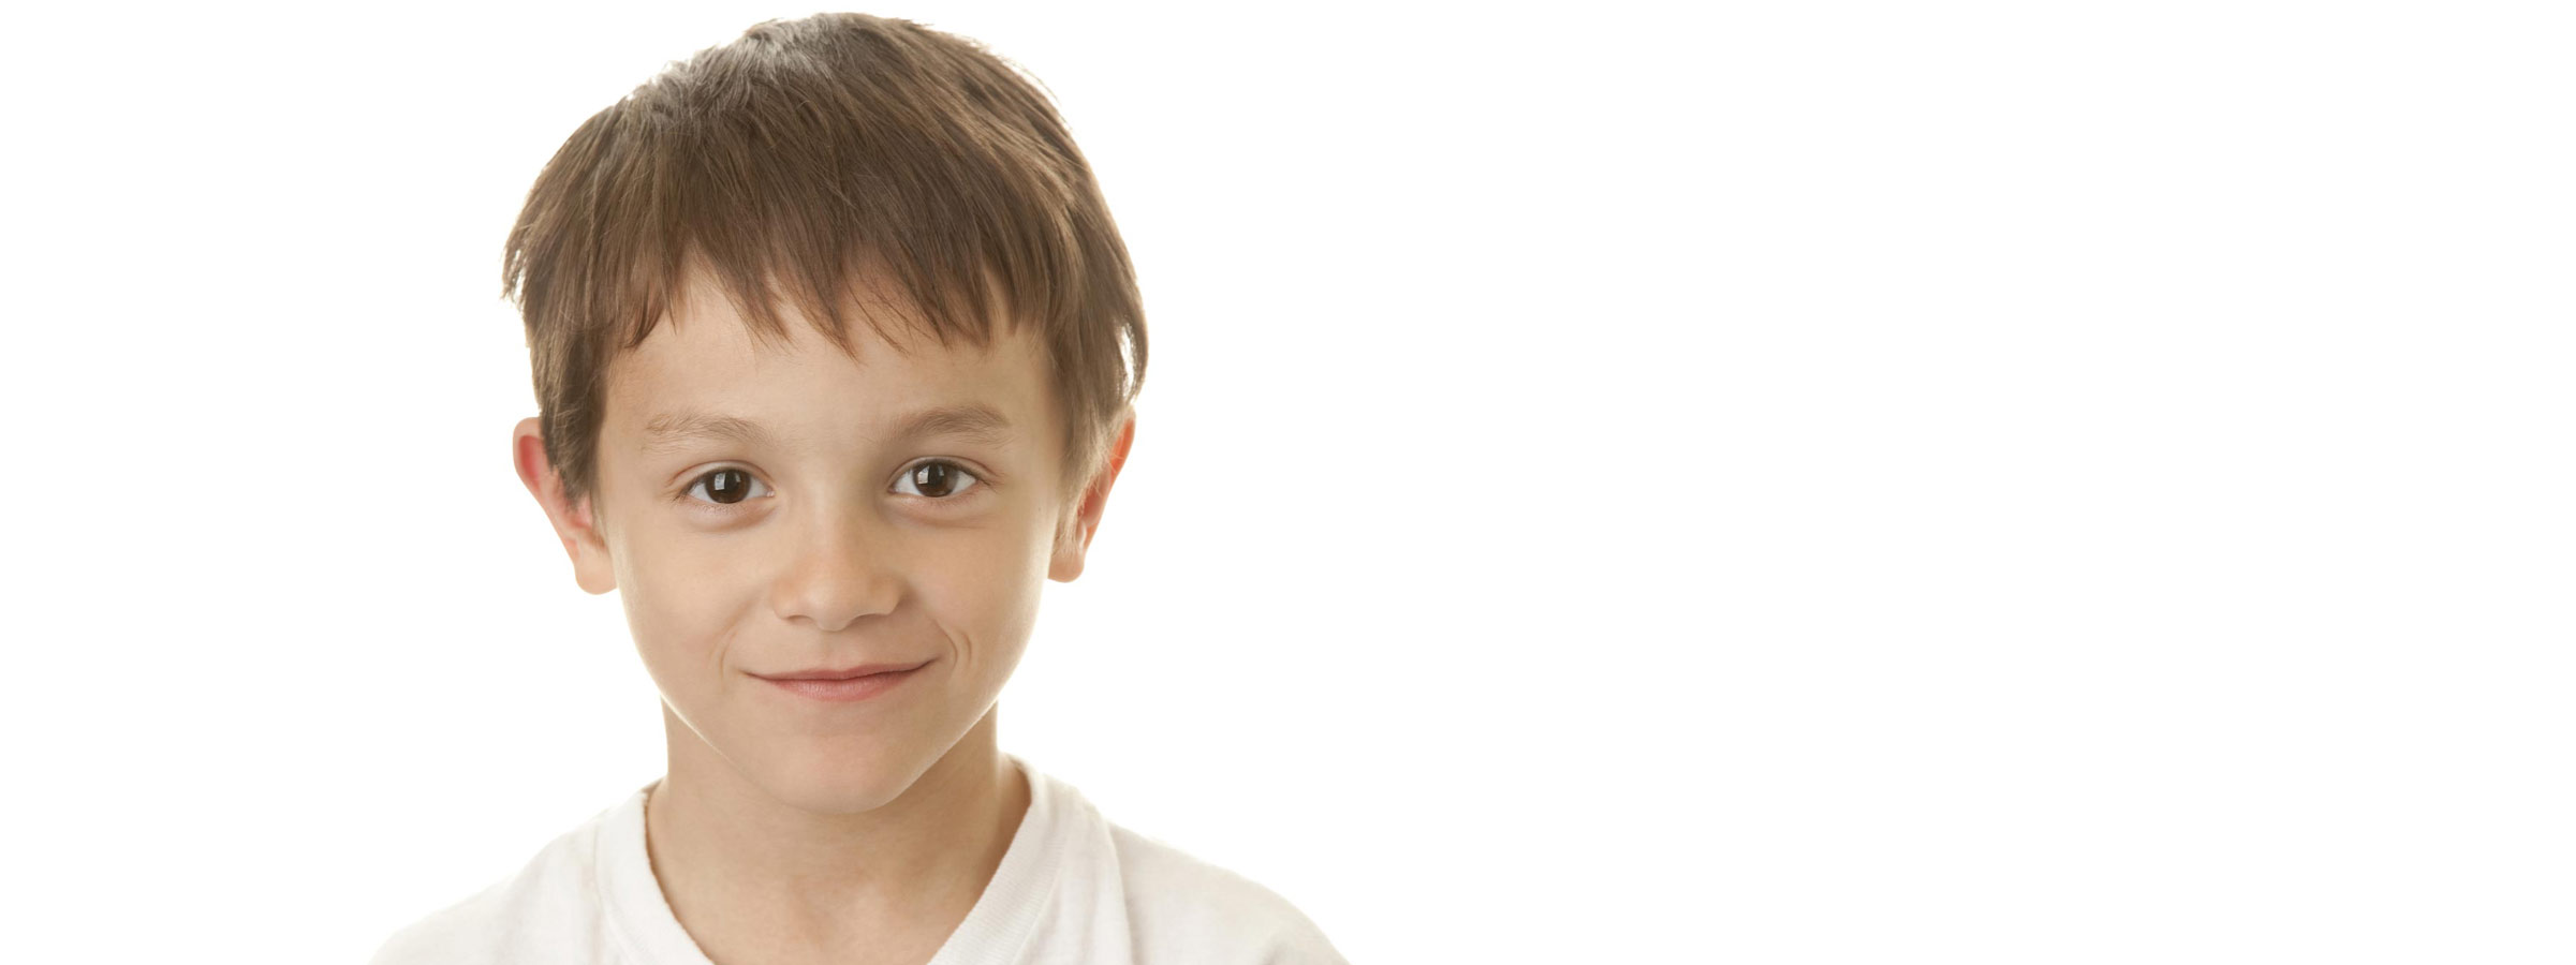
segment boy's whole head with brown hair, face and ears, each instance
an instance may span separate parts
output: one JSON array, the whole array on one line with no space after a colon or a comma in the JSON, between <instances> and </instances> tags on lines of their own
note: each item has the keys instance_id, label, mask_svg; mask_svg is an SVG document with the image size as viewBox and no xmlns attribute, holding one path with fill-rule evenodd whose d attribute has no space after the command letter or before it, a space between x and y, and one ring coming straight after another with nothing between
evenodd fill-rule
<instances>
[{"instance_id":1,"label":"boy's whole head with brown hair, face and ears","mask_svg":"<svg viewBox=\"0 0 2576 965\"><path fill-rule=\"evenodd\" d=\"M1046 98L848 13L760 23L585 121L505 293L538 396L513 458L577 582L618 589L672 721L827 813L984 721L1038 589L1082 571L1146 360ZM863 664L920 669L855 703L765 679Z\"/></svg>"}]
</instances>

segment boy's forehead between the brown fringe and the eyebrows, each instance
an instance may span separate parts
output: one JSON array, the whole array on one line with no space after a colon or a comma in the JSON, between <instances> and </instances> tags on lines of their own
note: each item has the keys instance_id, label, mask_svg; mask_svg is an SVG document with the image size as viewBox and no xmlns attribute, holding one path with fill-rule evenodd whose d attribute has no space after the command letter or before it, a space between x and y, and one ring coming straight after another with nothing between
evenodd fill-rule
<instances>
[{"instance_id":1,"label":"boy's forehead between the brown fringe and the eyebrows","mask_svg":"<svg viewBox=\"0 0 2576 965\"><path fill-rule=\"evenodd\" d=\"M1051 425L1046 353L1028 327L994 324L987 347L963 337L889 342L853 317L850 353L793 306L778 306L786 340L752 332L724 293L690 286L629 353L608 363L603 430L636 437L667 414L721 414L760 422L786 437L878 435L930 407L989 407L1015 437L1038 440ZM886 329L902 332L894 319Z\"/></svg>"}]
</instances>

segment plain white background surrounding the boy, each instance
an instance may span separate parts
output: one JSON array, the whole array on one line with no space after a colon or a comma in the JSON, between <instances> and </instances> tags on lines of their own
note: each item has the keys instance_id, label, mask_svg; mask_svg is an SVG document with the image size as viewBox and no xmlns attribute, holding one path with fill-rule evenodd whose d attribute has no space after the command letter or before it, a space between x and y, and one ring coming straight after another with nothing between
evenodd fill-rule
<instances>
[{"instance_id":1,"label":"plain white background surrounding the boy","mask_svg":"<svg viewBox=\"0 0 2576 965\"><path fill-rule=\"evenodd\" d=\"M1002 746L1355 962L2566 962L2550 5L909 3L1136 455ZM659 775L500 250L806 8L10 13L0 914L353 962Z\"/></svg>"}]
</instances>

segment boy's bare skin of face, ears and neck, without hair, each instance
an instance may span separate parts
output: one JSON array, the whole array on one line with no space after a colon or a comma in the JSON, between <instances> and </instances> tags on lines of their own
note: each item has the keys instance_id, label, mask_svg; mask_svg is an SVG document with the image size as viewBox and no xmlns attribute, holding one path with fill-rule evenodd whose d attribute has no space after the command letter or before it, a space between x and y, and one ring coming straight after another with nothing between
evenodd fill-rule
<instances>
[{"instance_id":1,"label":"boy's bare skin of face, ears and neck, without hair","mask_svg":"<svg viewBox=\"0 0 2576 965\"><path fill-rule=\"evenodd\" d=\"M654 875L716 965L927 962L1028 811L994 703L1043 582L1082 574L1136 422L1064 502L1030 332L902 355L855 324L853 358L783 306L781 350L703 280L688 291L608 368L592 499L564 504L538 419L513 435L574 582L618 592L662 692ZM899 432L976 404L1007 427ZM757 435L649 432L685 414ZM840 705L752 677L922 659L886 695Z\"/></svg>"}]
</instances>

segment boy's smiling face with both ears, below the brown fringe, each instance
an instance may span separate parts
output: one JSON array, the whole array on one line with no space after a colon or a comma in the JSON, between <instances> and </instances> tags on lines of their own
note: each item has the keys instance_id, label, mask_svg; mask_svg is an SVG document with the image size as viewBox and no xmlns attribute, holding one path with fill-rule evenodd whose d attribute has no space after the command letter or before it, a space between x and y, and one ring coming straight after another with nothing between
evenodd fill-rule
<instances>
[{"instance_id":1,"label":"boy's smiling face with both ears, below the brown fringe","mask_svg":"<svg viewBox=\"0 0 2576 965\"><path fill-rule=\"evenodd\" d=\"M778 800L855 813L912 787L994 705L1043 579L1082 571L1128 437L1066 507L1046 355L1025 329L989 350L925 340L909 358L866 324L858 358L793 311L788 332L786 350L760 345L701 286L611 363L585 507L559 502L536 419L518 461L582 589L618 589L665 705L703 741L672 754L714 751ZM1059 543L1064 512L1079 528ZM866 700L765 679L920 661Z\"/></svg>"}]
</instances>

